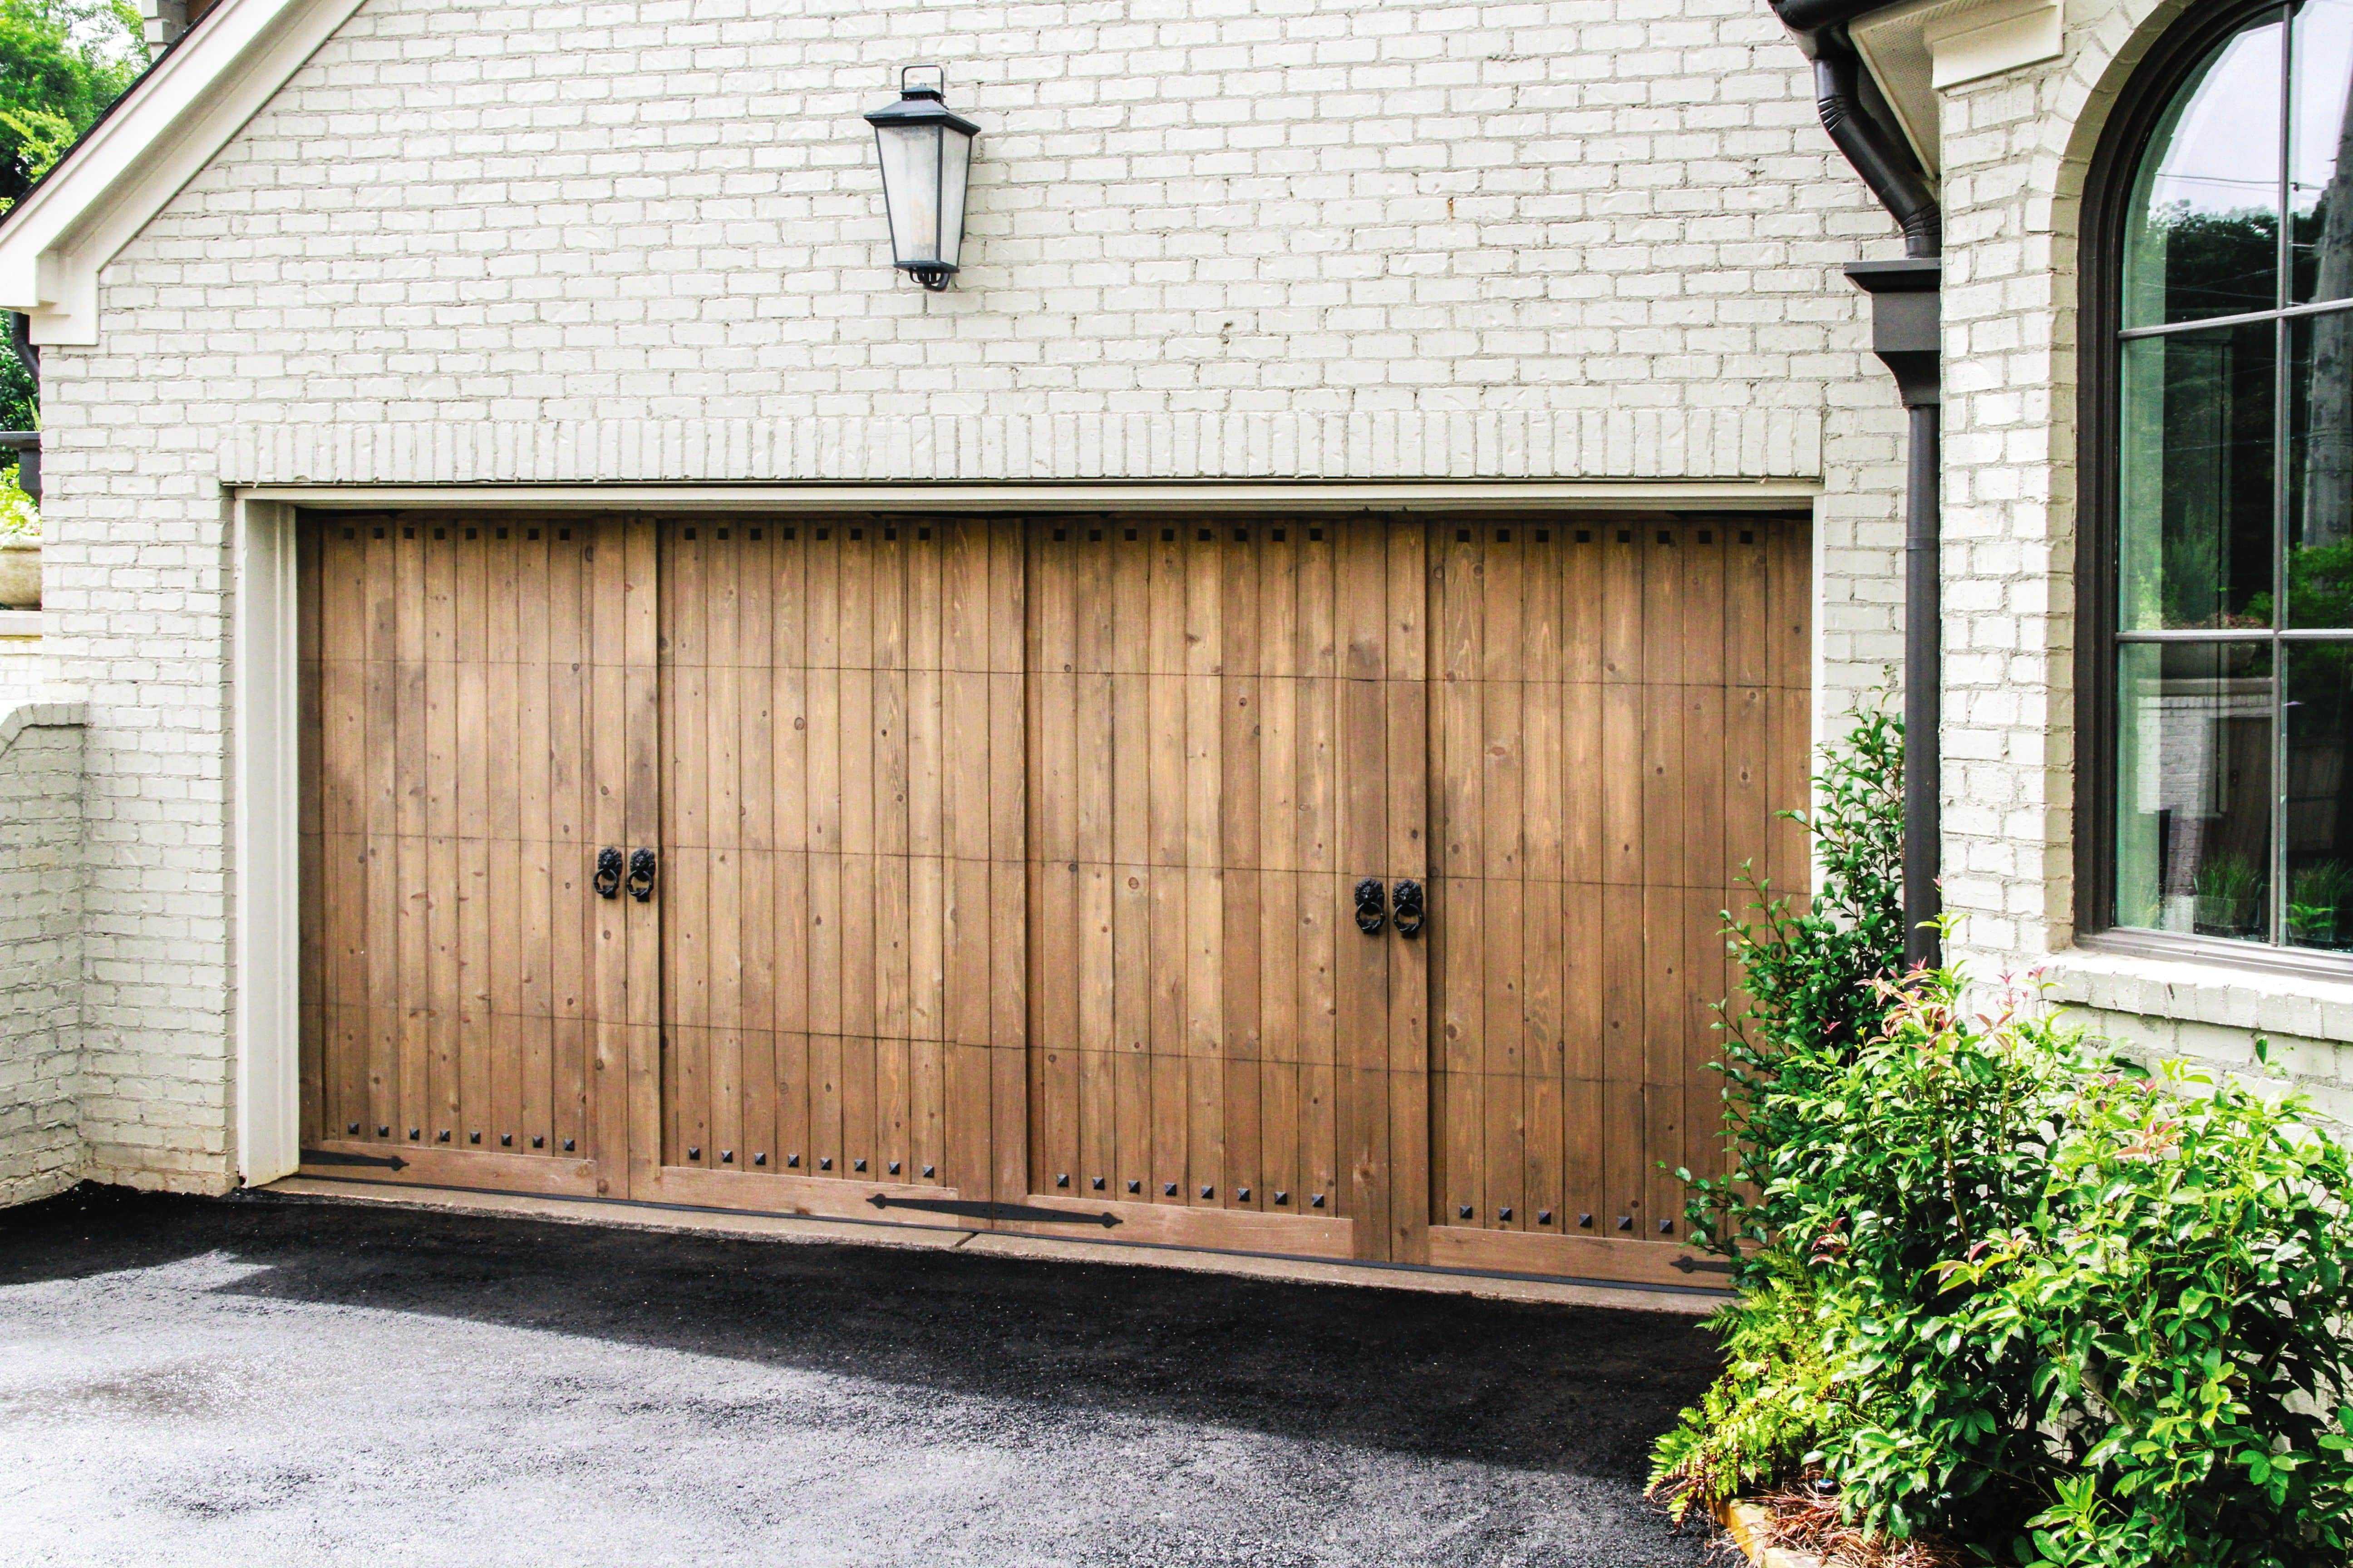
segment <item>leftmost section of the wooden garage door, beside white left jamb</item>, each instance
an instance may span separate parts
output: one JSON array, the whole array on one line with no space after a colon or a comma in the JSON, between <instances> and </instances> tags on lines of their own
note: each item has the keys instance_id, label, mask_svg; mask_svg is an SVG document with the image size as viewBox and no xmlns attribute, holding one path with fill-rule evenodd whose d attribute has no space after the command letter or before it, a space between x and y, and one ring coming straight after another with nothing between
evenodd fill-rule
<instances>
[{"instance_id":1,"label":"leftmost section of the wooden garage door, beside white left jamb","mask_svg":"<svg viewBox=\"0 0 2353 1568\"><path fill-rule=\"evenodd\" d=\"M654 912L654 548L626 520L306 522L304 1161L626 1190Z\"/></svg>"}]
</instances>

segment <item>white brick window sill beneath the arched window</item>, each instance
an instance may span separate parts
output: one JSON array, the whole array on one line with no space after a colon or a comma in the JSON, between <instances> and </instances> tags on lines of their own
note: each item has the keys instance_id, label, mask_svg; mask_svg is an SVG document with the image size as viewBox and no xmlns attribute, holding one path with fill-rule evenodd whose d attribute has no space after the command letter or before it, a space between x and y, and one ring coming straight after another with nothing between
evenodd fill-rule
<instances>
[{"instance_id":1,"label":"white brick window sill beneath the arched window","mask_svg":"<svg viewBox=\"0 0 2353 1568\"><path fill-rule=\"evenodd\" d=\"M2042 976L2059 1001L2104 1013L2353 1044L2353 964L2214 947L2104 931L2052 954Z\"/></svg>"}]
</instances>

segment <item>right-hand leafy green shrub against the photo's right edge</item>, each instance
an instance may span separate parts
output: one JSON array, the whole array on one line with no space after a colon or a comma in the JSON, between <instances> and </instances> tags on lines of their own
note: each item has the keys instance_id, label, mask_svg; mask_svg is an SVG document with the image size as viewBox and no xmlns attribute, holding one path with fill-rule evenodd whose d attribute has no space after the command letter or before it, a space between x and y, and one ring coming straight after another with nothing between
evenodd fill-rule
<instances>
[{"instance_id":1,"label":"right-hand leafy green shrub against the photo's right edge","mask_svg":"<svg viewBox=\"0 0 2353 1568\"><path fill-rule=\"evenodd\" d=\"M2087 1074L2033 1222L1948 1267L1955 1331L2033 1363L2049 1474L2021 1561L2353 1561L2353 1171L2266 1103L2179 1067Z\"/></svg>"}]
</instances>

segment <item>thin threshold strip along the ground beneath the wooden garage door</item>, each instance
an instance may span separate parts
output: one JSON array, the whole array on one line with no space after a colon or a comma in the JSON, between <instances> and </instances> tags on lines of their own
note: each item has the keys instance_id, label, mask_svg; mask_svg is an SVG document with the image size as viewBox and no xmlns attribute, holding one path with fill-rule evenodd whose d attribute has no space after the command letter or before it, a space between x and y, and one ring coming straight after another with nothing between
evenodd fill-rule
<instances>
[{"instance_id":1,"label":"thin threshold strip along the ground beneath the wooden garage door","mask_svg":"<svg viewBox=\"0 0 2353 1568\"><path fill-rule=\"evenodd\" d=\"M927 1251L986 1253L991 1258L1038 1258L1054 1262L1118 1262L1129 1267L1191 1269L1200 1274L1240 1274L1299 1284L1355 1284L1391 1291L1433 1291L1511 1302L1558 1302L1567 1307L1619 1307L1631 1312L1675 1312L1697 1316L1725 1305L1729 1293L1685 1286L1642 1286L1588 1279L1551 1279L1534 1274L1499 1274L1468 1269L1433 1269L1405 1262L1332 1262L1325 1258L1287 1258L1278 1253L1212 1253L1160 1246L1151 1241L1080 1241L1061 1237L1012 1237L951 1225L904 1225L854 1218L760 1215L729 1208L694 1208L685 1204L631 1204L626 1199L572 1199L536 1192L473 1192L461 1187L388 1187L384 1182L339 1182L318 1175L289 1175L261 1187L271 1197L376 1204L386 1208L438 1208L456 1213L504 1213L569 1225L616 1225L664 1232L701 1232L720 1237L758 1237L767 1241L824 1241L906 1246Z\"/></svg>"}]
</instances>

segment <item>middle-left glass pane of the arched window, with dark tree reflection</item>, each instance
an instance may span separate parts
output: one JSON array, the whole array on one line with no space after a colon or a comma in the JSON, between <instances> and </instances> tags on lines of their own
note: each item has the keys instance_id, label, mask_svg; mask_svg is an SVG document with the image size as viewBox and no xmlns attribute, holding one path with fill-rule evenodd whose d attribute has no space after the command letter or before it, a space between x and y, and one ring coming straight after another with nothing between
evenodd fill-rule
<instances>
[{"instance_id":1,"label":"middle-left glass pane of the arched window, with dark tree reflection","mask_svg":"<svg viewBox=\"0 0 2353 1568\"><path fill-rule=\"evenodd\" d=\"M2118 625L2271 628L2271 322L2125 343Z\"/></svg>"}]
</instances>

